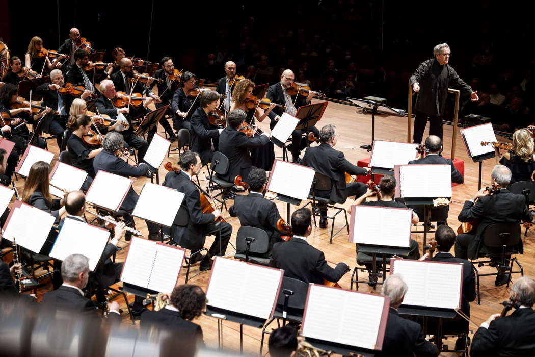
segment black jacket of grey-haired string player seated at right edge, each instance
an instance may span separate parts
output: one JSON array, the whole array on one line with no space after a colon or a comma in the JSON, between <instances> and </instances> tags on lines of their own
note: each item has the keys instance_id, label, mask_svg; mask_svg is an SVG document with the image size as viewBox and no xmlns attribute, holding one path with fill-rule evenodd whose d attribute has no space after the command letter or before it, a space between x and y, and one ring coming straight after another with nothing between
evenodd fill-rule
<instances>
[{"instance_id":1,"label":"black jacket of grey-haired string player seated at right edge","mask_svg":"<svg viewBox=\"0 0 535 357\"><path fill-rule=\"evenodd\" d=\"M475 238L468 246L468 257L477 259L479 249L483 245L483 231L493 223L531 222L531 213L526 207L523 195L516 195L502 188L490 196L479 198L476 203L464 202L463 209L458 216L459 222L478 221ZM522 242L517 247L524 253Z\"/></svg>"}]
</instances>

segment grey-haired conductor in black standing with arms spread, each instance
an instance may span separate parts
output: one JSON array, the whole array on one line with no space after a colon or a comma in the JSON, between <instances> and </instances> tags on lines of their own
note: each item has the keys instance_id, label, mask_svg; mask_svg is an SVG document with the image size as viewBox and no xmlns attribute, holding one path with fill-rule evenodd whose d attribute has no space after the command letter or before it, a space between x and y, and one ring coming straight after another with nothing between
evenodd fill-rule
<instances>
[{"instance_id":1,"label":"grey-haired conductor in black standing with arms spread","mask_svg":"<svg viewBox=\"0 0 535 357\"><path fill-rule=\"evenodd\" d=\"M479 100L477 92L474 92L449 65L451 53L447 43L437 44L433 48L434 58L422 62L410 76L412 90L418 93L412 134L412 141L415 143L422 142L427 118L429 118L429 134L442 139L442 117L450 84L459 87L461 92L470 94L472 101Z\"/></svg>"}]
</instances>

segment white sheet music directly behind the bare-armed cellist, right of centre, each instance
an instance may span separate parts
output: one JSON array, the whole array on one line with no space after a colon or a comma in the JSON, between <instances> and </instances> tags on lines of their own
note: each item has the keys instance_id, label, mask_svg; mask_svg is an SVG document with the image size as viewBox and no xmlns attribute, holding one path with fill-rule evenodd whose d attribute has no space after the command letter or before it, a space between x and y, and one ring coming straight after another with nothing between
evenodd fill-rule
<instances>
[{"instance_id":1,"label":"white sheet music directly behind the bare-armed cellist, right of centre","mask_svg":"<svg viewBox=\"0 0 535 357\"><path fill-rule=\"evenodd\" d=\"M364 206L351 208L355 216L350 242L391 247L410 247L411 209Z\"/></svg>"}]
</instances>

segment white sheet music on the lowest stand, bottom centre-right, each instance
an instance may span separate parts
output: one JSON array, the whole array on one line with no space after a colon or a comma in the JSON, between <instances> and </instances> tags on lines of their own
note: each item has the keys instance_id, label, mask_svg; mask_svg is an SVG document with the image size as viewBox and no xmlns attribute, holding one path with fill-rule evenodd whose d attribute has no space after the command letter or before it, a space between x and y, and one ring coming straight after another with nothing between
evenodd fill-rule
<instances>
[{"instance_id":1,"label":"white sheet music on the lowest stand, bottom centre-right","mask_svg":"<svg viewBox=\"0 0 535 357\"><path fill-rule=\"evenodd\" d=\"M376 346L376 342L384 304L383 295L312 285L302 334L349 346L379 349L381 346Z\"/></svg>"}]
</instances>

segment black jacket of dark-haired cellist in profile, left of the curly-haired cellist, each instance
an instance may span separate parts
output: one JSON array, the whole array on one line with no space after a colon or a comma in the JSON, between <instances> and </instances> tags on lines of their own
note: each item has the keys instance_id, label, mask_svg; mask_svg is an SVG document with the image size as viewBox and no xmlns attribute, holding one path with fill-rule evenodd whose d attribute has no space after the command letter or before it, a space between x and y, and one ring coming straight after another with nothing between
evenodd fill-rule
<instances>
[{"instance_id":1,"label":"black jacket of dark-haired cellist in profile, left of the curly-haired cellist","mask_svg":"<svg viewBox=\"0 0 535 357\"><path fill-rule=\"evenodd\" d=\"M202 212L200 193L197 187L193 185L188 175L183 171L179 173L167 172L162 185L184 193L184 200L182 200L180 209L177 212L177 219L175 219L175 223L171 227L173 239L181 247L187 249L199 246L199 241L202 241L202 245L204 245L206 235L203 228L209 223L213 223L216 217L211 213L205 214ZM177 224L179 215L187 215L188 223L186 226Z\"/></svg>"}]
</instances>

